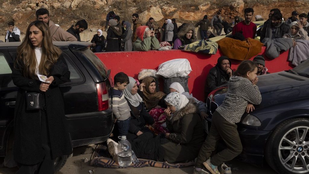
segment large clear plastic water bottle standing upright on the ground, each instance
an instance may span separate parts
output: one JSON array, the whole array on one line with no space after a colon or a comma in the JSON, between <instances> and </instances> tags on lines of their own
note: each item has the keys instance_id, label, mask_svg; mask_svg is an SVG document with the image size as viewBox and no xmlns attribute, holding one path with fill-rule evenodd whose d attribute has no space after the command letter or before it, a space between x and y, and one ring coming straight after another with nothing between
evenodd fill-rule
<instances>
[{"instance_id":1,"label":"large clear plastic water bottle standing upright on the ground","mask_svg":"<svg viewBox=\"0 0 309 174\"><path fill-rule=\"evenodd\" d=\"M127 167L132 164L131 144L125 135L118 138L121 139L117 146L118 163L121 167Z\"/></svg>"}]
</instances>

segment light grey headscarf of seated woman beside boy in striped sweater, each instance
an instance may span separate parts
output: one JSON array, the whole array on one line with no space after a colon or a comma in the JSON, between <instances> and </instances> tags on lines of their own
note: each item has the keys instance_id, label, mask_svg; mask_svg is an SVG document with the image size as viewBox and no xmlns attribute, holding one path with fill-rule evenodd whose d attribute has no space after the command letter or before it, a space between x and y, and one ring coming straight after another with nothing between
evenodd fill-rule
<instances>
[{"instance_id":1,"label":"light grey headscarf of seated woman beside boy in striped sweater","mask_svg":"<svg viewBox=\"0 0 309 174\"><path fill-rule=\"evenodd\" d=\"M123 93L125 94L125 98L131 103L132 106L138 107L138 105L143 101L141 96L137 93L135 95L132 95L131 89L136 84L136 81L133 77L129 77L129 84L123 90Z\"/></svg>"}]
</instances>

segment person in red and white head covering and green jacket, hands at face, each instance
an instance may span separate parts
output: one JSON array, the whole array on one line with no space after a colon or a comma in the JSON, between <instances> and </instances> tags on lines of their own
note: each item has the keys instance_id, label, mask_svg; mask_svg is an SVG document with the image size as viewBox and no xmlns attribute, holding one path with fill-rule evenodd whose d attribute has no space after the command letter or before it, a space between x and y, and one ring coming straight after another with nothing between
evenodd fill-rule
<instances>
[{"instance_id":1,"label":"person in red and white head covering and green jacket, hands at face","mask_svg":"<svg viewBox=\"0 0 309 174\"><path fill-rule=\"evenodd\" d=\"M134 51L157 50L160 43L155 37L155 32L150 30L148 26L139 26L136 29L137 40L133 43Z\"/></svg>"}]
</instances>

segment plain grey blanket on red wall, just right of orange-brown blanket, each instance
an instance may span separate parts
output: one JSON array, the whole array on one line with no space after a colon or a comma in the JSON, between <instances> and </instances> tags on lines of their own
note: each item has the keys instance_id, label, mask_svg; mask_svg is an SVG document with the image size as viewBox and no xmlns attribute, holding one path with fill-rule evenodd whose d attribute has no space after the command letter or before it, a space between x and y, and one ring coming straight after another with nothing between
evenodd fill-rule
<instances>
[{"instance_id":1,"label":"plain grey blanket on red wall, just right of orange-brown blanket","mask_svg":"<svg viewBox=\"0 0 309 174\"><path fill-rule=\"evenodd\" d=\"M290 38L264 38L262 41L266 46L265 55L269 59L279 57L280 51L287 51L293 47L293 41Z\"/></svg>"}]
</instances>

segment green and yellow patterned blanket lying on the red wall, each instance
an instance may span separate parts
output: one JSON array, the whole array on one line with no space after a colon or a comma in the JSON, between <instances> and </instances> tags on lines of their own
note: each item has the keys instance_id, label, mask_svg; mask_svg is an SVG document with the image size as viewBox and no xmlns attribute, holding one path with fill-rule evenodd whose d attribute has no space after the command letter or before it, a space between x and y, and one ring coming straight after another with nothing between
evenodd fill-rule
<instances>
[{"instance_id":1,"label":"green and yellow patterned blanket lying on the red wall","mask_svg":"<svg viewBox=\"0 0 309 174\"><path fill-rule=\"evenodd\" d=\"M198 40L191 44L180 46L184 51L204 53L204 54L216 54L218 50L218 44L213 41Z\"/></svg>"}]
</instances>

